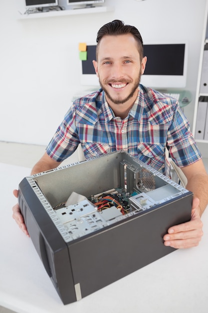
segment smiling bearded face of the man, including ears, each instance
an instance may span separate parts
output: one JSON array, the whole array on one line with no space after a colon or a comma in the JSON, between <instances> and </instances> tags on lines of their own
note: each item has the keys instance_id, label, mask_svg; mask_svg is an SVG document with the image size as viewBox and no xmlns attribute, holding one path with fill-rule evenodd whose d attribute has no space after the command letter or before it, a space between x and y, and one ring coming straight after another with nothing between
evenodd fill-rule
<instances>
[{"instance_id":1,"label":"smiling bearded face of the man, including ears","mask_svg":"<svg viewBox=\"0 0 208 313\"><path fill-rule=\"evenodd\" d=\"M106 98L115 104L135 101L147 58L140 61L137 41L132 34L103 36L98 60L93 65Z\"/></svg>"}]
</instances>

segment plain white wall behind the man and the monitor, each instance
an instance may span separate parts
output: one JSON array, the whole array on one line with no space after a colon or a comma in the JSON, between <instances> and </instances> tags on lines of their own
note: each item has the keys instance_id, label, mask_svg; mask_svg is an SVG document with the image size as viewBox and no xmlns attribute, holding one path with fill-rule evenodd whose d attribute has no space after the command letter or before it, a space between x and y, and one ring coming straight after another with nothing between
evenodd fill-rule
<instances>
[{"instance_id":1,"label":"plain white wall behind the man and the monitor","mask_svg":"<svg viewBox=\"0 0 208 313\"><path fill-rule=\"evenodd\" d=\"M106 0L113 12L18 19L23 0L0 9L0 140L46 145L79 83L78 43L95 41L115 18L133 24L145 41L189 41L187 89L193 121L206 0Z\"/></svg>"}]
</instances>

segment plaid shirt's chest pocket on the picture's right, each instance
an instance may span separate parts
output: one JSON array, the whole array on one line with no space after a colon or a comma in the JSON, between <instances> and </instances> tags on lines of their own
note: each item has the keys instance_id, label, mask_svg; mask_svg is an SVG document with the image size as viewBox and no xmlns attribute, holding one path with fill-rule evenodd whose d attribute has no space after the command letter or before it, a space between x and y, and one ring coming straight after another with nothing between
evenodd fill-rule
<instances>
[{"instance_id":1,"label":"plaid shirt's chest pocket on the picture's right","mask_svg":"<svg viewBox=\"0 0 208 313\"><path fill-rule=\"evenodd\" d=\"M138 158L158 171L165 171L165 146L162 144L139 143Z\"/></svg>"}]
</instances>

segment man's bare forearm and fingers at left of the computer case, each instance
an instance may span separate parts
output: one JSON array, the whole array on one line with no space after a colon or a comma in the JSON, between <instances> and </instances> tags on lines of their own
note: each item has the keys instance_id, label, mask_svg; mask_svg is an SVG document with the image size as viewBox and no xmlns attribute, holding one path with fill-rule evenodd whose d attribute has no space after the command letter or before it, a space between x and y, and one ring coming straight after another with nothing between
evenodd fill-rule
<instances>
[{"instance_id":1,"label":"man's bare forearm and fingers at left of the computer case","mask_svg":"<svg viewBox=\"0 0 208 313\"><path fill-rule=\"evenodd\" d=\"M53 160L47 154L47 152L45 152L43 154L43 156L40 158L40 160L33 166L32 170L31 170L31 175L36 174L36 173L40 173L42 171L46 171L49 169L53 169L53 168L57 167L58 165L60 165L60 163L61 162L57 162L57 161ZM18 197L18 190L13 190L13 194L15 197ZM18 203L12 207L12 210L13 210L12 217L15 219L15 221L18 224L18 226L20 227L20 229L27 236L29 236L29 233L28 233L26 225L24 223L23 216L21 215Z\"/></svg>"}]
</instances>

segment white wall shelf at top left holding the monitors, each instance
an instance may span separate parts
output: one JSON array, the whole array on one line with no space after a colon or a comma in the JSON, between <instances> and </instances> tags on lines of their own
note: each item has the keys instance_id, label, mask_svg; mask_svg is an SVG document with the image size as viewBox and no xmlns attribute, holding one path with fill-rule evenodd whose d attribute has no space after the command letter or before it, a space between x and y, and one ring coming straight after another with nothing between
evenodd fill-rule
<instances>
[{"instance_id":1,"label":"white wall shelf at top left holding the monitors","mask_svg":"<svg viewBox=\"0 0 208 313\"><path fill-rule=\"evenodd\" d=\"M66 15L77 15L77 14L90 14L90 13L105 13L114 10L112 6L95 6L88 8L78 9L65 9L65 10L50 10L48 12L37 12L30 14L19 13L18 19L30 19L30 18L42 18L42 17L54 17L54 16L66 16Z\"/></svg>"}]
</instances>

